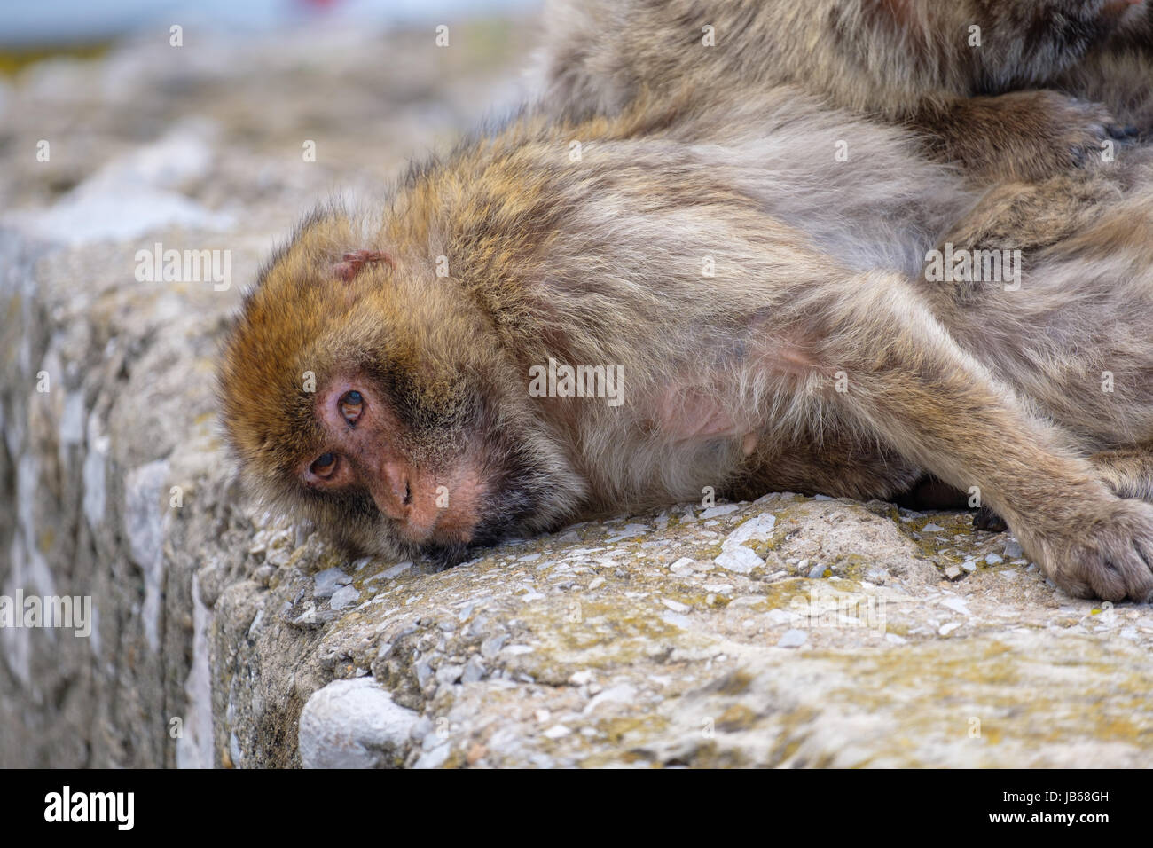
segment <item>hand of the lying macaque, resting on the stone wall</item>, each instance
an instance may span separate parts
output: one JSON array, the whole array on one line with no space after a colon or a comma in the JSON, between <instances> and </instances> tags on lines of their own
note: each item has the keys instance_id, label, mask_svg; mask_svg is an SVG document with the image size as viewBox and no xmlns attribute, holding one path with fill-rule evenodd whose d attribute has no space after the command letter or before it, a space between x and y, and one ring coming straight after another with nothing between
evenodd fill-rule
<instances>
[{"instance_id":1,"label":"hand of the lying macaque, resting on the stone wall","mask_svg":"<svg viewBox=\"0 0 1153 848\"><path fill-rule=\"evenodd\" d=\"M1062 590L1077 598L1153 598L1153 505L1115 498L1083 513L1063 538L1017 533Z\"/></svg>"}]
</instances>

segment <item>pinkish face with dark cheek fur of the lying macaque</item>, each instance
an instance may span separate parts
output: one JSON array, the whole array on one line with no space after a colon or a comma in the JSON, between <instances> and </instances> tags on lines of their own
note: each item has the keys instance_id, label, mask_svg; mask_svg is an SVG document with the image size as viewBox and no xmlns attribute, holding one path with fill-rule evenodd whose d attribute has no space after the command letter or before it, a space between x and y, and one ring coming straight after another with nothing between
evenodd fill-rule
<instances>
[{"instance_id":1,"label":"pinkish face with dark cheek fur of the lying macaque","mask_svg":"<svg viewBox=\"0 0 1153 848\"><path fill-rule=\"evenodd\" d=\"M315 437L285 482L353 551L453 564L555 515L560 463L515 398L467 369L436 378L439 390L385 362L315 395Z\"/></svg>"}]
</instances>

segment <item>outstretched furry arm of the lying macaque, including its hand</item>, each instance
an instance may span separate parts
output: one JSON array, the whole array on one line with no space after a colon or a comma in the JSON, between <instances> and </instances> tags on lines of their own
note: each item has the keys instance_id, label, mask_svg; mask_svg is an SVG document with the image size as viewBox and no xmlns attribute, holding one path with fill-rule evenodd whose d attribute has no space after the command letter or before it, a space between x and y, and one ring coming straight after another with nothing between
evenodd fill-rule
<instances>
[{"instance_id":1,"label":"outstretched furry arm of the lying macaque, including its hand","mask_svg":"<svg viewBox=\"0 0 1153 848\"><path fill-rule=\"evenodd\" d=\"M844 412L944 482L978 487L1070 594L1153 595L1153 505L1110 491L1056 428L1028 415L952 340L903 278L868 273L843 285L824 292L814 330L821 370L847 374L847 391L836 395Z\"/></svg>"}]
</instances>

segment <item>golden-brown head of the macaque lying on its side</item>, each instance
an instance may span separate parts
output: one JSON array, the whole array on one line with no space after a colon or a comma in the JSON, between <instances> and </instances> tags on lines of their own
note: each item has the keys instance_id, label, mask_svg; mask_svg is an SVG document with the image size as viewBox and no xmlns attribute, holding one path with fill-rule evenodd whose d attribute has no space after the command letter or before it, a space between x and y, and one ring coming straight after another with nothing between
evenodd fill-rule
<instances>
[{"instance_id":1,"label":"golden-brown head of the macaque lying on its side","mask_svg":"<svg viewBox=\"0 0 1153 848\"><path fill-rule=\"evenodd\" d=\"M226 342L221 413L265 502L356 553L452 562L553 524L570 472L491 320L412 247L307 220Z\"/></svg>"}]
</instances>

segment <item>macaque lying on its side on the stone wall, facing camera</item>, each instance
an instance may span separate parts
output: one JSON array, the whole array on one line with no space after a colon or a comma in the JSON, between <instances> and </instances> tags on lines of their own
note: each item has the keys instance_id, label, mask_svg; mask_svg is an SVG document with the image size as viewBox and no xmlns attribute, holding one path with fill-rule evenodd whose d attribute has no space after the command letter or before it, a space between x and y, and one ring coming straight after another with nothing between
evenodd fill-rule
<instances>
[{"instance_id":1,"label":"macaque lying on its side on the stone wall, facing camera","mask_svg":"<svg viewBox=\"0 0 1153 848\"><path fill-rule=\"evenodd\" d=\"M1147 213L958 305L921 265L973 198L899 128L787 87L643 100L526 113L301 224L220 366L258 495L452 563L706 486L888 500L930 474L1067 592L1153 595L1153 504L1090 459L1153 440ZM624 402L532 390L560 366L617 369Z\"/></svg>"}]
</instances>

